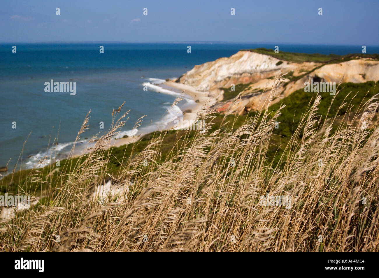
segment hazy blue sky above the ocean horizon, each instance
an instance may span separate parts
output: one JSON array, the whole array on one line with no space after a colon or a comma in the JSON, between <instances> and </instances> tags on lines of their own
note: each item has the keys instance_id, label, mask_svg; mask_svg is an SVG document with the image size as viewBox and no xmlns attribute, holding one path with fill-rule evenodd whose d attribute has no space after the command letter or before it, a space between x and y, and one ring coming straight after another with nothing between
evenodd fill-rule
<instances>
[{"instance_id":1,"label":"hazy blue sky above the ocean horizon","mask_svg":"<svg viewBox=\"0 0 379 278\"><path fill-rule=\"evenodd\" d=\"M379 45L379 0L2 0L0 6L2 43Z\"/></svg>"}]
</instances>

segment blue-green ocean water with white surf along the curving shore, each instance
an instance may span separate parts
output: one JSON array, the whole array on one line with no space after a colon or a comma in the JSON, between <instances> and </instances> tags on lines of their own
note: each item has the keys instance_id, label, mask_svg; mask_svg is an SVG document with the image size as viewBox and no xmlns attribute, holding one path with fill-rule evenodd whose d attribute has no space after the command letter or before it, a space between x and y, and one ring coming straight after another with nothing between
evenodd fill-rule
<instances>
[{"instance_id":1,"label":"blue-green ocean water with white surf along the curving shore","mask_svg":"<svg viewBox=\"0 0 379 278\"><path fill-rule=\"evenodd\" d=\"M34 166L46 155L55 138L56 152L69 150L90 109L90 127L81 134L82 139L108 130L113 108L124 101L122 112L131 111L123 134L130 134L136 120L144 115L138 132L153 130L168 113L175 95L144 91L144 82L179 77L197 64L241 49L274 48L274 44L52 43L16 44L17 52L12 53L12 45L0 44L0 166L11 159L9 169L22 148L20 160L25 167ZM104 53L99 52L100 45ZM187 53L187 45L191 45L191 53ZM359 53L362 47L280 45L280 50L345 55ZM379 53L379 47L367 47L367 53ZM50 80L75 81L76 94L45 92L44 83ZM16 128L12 128L13 122Z\"/></svg>"}]
</instances>

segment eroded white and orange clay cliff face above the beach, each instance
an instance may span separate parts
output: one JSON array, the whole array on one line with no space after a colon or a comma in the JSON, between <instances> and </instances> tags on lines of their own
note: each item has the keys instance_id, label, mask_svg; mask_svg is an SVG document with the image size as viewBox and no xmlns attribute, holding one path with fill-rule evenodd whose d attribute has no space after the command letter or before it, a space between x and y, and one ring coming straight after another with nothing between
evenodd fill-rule
<instances>
[{"instance_id":1,"label":"eroded white and orange clay cliff face above the beach","mask_svg":"<svg viewBox=\"0 0 379 278\"><path fill-rule=\"evenodd\" d=\"M279 61L282 63L280 64ZM197 91L221 95L219 100L222 100L221 88L230 87L232 84L253 83L247 86L234 100L228 101L220 110L241 114L251 109L262 108L273 86L272 78L286 72L291 72L291 77L284 80L287 84L280 88L280 97L272 104L292 92L304 88L304 83L310 82L311 79L336 82L336 84L377 81L379 80L379 61L359 58L323 66L316 62L294 63L255 52L240 51L229 58L220 58L195 66L178 78L176 82L193 86ZM309 73L304 75L306 72ZM301 75L304 76L300 78Z\"/></svg>"}]
</instances>

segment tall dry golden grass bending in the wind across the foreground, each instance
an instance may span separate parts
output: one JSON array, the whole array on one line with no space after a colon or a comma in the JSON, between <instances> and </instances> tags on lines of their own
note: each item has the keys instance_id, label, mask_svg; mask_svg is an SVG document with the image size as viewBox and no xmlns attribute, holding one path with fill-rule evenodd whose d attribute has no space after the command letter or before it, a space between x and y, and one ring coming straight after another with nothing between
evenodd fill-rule
<instances>
[{"instance_id":1,"label":"tall dry golden grass bending in the wind across the foreground","mask_svg":"<svg viewBox=\"0 0 379 278\"><path fill-rule=\"evenodd\" d=\"M267 109L233 133L210 132L208 120L205 130L186 142L188 148L178 153L175 146L163 162L161 136L125 157L122 170L111 177L123 196L99 201L91 196L110 178L106 147L126 116L116 122L121 107L116 109L111 130L94 138L96 144L76 165L65 166L70 174L50 192L53 201L2 220L0 249L379 251L379 128L373 123L378 102L373 98L364 104L365 112L354 119L358 126L341 122L331 135L336 119L317 120L317 97L280 167L273 168L266 152L280 109L271 117L268 107L280 81ZM207 119L212 112L204 107L198 117ZM88 116L78 136L87 122ZM370 128L360 128L363 122L371 122ZM260 205L266 194L291 195L291 208Z\"/></svg>"}]
</instances>

